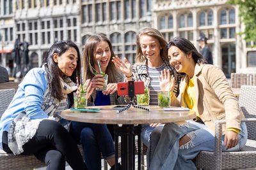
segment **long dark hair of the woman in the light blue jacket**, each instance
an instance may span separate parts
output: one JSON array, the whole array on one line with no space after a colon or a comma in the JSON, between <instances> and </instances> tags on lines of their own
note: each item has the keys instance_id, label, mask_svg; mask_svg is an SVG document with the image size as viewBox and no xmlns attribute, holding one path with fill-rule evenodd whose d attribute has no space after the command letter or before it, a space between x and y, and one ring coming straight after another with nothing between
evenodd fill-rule
<instances>
[{"instance_id":1,"label":"long dark hair of the woman in the light blue jacket","mask_svg":"<svg viewBox=\"0 0 256 170\"><path fill-rule=\"evenodd\" d=\"M47 52L42 64L45 64L45 71L47 73L51 95L59 101L63 99L63 94L61 92L62 87L60 85L61 71L58 67L58 63L53 60L53 54L57 53L58 56L61 56L63 53L67 52L69 48L75 48L78 57L76 69L70 76L70 79L76 83L76 77L78 77L79 83L81 83L81 57L79 48L72 41L56 41Z\"/></svg>"}]
</instances>

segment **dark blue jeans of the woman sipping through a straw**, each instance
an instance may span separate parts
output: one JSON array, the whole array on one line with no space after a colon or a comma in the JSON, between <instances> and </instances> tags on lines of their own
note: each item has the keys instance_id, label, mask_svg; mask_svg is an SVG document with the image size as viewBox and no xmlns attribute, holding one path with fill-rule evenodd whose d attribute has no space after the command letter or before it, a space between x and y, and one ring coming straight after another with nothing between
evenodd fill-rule
<instances>
[{"instance_id":1,"label":"dark blue jeans of the woman sipping through a straw","mask_svg":"<svg viewBox=\"0 0 256 170\"><path fill-rule=\"evenodd\" d=\"M70 134L77 143L82 143L84 161L88 169L101 169L101 156L104 159L115 157L111 134L106 124L71 122Z\"/></svg>"}]
</instances>

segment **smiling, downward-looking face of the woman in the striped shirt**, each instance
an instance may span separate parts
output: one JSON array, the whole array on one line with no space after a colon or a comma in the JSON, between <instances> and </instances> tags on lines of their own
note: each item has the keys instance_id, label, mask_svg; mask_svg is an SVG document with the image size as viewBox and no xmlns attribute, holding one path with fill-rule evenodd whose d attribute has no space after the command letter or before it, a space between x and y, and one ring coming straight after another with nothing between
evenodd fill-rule
<instances>
[{"instance_id":1,"label":"smiling, downward-looking face of the woman in the striped shirt","mask_svg":"<svg viewBox=\"0 0 256 170\"><path fill-rule=\"evenodd\" d=\"M160 52L163 47L160 45L159 40L148 35L140 37L141 51L150 62L161 59Z\"/></svg>"}]
</instances>

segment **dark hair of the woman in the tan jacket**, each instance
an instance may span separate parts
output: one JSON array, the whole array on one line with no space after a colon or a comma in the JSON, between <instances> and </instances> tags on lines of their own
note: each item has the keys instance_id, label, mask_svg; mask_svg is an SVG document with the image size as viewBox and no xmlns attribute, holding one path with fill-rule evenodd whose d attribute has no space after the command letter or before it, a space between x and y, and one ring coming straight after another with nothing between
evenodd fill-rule
<instances>
[{"instance_id":1,"label":"dark hair of the woman in the tan jacket","mask_svg":"<svg viewBox=\"0 0 256 170\"><path fill-rule=\"evenodd\" d=\"M171 46L177 46L184 53L191 52L195 63L198 63L198 64L207 63L204 57L202 56L202 54L200 54L196 50L195 46L186 38L182 38L182 37L173 38L172 41L170 41L167 45L167 52Z\"/></svg>"}]
</instances>

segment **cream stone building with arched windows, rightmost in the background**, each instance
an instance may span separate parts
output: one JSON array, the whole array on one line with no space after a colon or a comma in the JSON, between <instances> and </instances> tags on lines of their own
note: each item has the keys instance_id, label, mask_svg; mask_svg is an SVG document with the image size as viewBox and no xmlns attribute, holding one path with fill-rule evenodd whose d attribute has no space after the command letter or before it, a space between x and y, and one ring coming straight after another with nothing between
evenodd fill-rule
<instances>
[{"instance_id":1,"label":"cream stone building with arched windows, rightmost in the background","mask_svg":"<svg viewBox=\"0 0 256 170\"><path fill-rule=\"evenodd\" d=\"M239 21L238 6L226 4L226 0L161 0L154 1L152 11L152 27L159 29L167 41L182 36L199 50L196 39L203 34L209 38L213 63L227 77L234 72L256 72L255 49L248 48L236 34L244 26Z\"/></svg>"}]
</instances>

